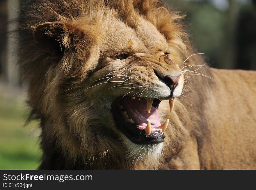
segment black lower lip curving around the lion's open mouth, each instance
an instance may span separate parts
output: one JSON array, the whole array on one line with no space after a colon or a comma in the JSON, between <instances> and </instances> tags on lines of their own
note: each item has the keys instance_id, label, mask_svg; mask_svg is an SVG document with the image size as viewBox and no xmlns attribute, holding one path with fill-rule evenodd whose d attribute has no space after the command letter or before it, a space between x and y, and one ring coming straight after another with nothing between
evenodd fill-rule
<instances>
[{"instance_id":1,"label":"black lower lip curving around the lion's open mouth","mask_svg":"<svg viewBox=\"0 0 256 190\"><path fill-rule=\"evenodd\" d=\"M144 130L136 128L136 124L130 124L125 122L125 120L119 116L116 109L116 105L120 101L121 101L121 98L117 98L113 103L112 114L113 114L116 125L129 140L131 140L135 144L152 144L152 143L163 142L165 138L164 134L155 132L153 134L150 134L149 136L146 136ZM161 102L160 100L155 101L155 106L157 109L160 102ZM153 103L153 106L154 106L154 103Z\"/></svg>"}]
</instances>

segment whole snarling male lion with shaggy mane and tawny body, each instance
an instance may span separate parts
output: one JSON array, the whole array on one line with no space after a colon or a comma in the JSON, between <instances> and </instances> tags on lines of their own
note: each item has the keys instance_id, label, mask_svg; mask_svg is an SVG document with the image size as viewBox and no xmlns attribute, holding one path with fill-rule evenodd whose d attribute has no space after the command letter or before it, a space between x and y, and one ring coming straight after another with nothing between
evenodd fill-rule
<instances>
[{"instance_id":1,"label":"whole snarling male lion with shaggy mane and tawny body","mask_svg":"<svg viewBox=\"0 0 256 190\"><path fill-rule=\"evenodd\" d=\"M207 67L182 18L150 0L22 6L40 169L256 169L256 72Z\"/></svg>"}]
</instances>

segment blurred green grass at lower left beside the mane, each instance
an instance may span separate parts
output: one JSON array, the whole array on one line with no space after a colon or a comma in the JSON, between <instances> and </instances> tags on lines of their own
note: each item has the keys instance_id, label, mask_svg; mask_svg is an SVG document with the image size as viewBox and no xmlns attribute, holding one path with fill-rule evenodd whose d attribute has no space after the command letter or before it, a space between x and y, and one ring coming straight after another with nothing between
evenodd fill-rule
<instances>
[{"instance_id":1,"label":"blurred green grass at lower left beside the mane","mask_svg":"<svg viewBox=\"0 0 256 190\"><path fill-rule=\"evenodd\" d=\"M0 96L0 169L37 169L40 161L37 122L24 126L23 101Z\"/></svg>"}]
</instances>

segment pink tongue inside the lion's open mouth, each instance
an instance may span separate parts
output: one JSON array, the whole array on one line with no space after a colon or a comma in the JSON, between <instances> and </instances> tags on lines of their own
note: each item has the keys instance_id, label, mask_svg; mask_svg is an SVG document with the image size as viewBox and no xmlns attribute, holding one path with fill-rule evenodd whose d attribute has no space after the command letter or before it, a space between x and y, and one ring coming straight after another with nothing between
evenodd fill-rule
<instances>
[{"instance_id":1,"label":"pink tongue inside the lion's open mouth","mask_svg":"<svg viewBox=\"0 0 256 190\"><path fill-rule=\"evenodd\" d=\"M146 99L139 101L138 99L126 98L120 104L123 106L123 110L127 112L129 118L134 120L134 123L139 128L145 129L148 120L150 120L151 128L159 128L161 125L157 108L152 106L150 113L147 113Z\"/></svg>"}]
</instances>

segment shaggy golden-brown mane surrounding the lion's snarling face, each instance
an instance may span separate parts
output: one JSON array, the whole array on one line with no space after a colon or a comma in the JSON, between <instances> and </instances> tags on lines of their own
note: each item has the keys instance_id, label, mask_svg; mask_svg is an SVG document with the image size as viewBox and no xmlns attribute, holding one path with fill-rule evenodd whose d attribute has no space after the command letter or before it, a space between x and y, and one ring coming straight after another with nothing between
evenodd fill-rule
<instances>
[{"instance_id":1,"label":"shaggy golden-brown mane surrounding the lion's snarling face","mask_svg":"<svg viewBox=\"0 0 256 190\"><path fill-rule=\"evenodd\" d=\"M182 24L183 16L168 9L161 1L42 0L24 3L20 16L20 65L28 84L28 103L32 108L29 119L41 121L44 155L40 168L53 167L56 163L50 163L47 159L54 157L60 160L55 168L62 169L159 169L180 151L186 138L193 133L188 125L191 122L189 113L179 101L176 101L172 113L161 115L161 119L172 118L171 127L166 132L168 143L164 147L165 154L170 156L165 158L154 155L134 161L135 158L126 156L129 150L124 152L122 146L115 144L114 140L119 139L109 129L98 127L97 134L90 129L98 116L89 111L90 102L81 106L79 85L86 83L92 74L92 50L102 43L98 28L103 17L109 15L114 15L130 28L138 26L139 18L152 23L167 39L170 49L175 50L172 52L175 63L182 63L193 54ZM51 30L43 31L40 28L43 23L49 23ZM56 28L59 29L56 31ZM51 40L51 35L55 35L54 32L61 32L58 40L53 42L54 47L61 46L60 52L49 51L47 44L35 41L37 36L36 39L42 38L43 42L47 42ZM201 64L202 58L192 57L188 60L188 64L193 62ZM56 66L57 63L59 66ZM93 69L100 68L97 65ZM196 81L202 82L201 79ZM70 84L74 87L71 88ZM200 93L201 97L205 96L203 92ZM85 135L88 133L90 136Z\"/></svg>"}]
</instances>

